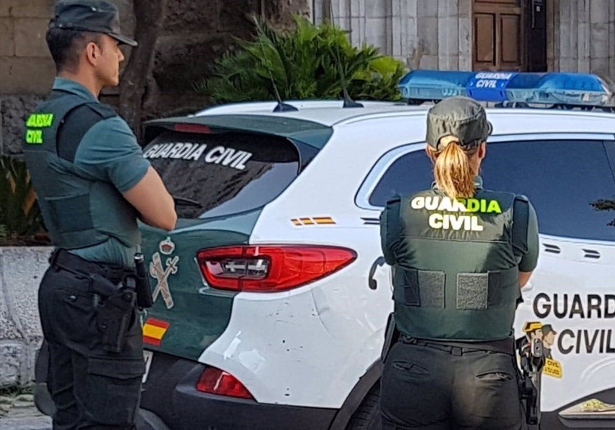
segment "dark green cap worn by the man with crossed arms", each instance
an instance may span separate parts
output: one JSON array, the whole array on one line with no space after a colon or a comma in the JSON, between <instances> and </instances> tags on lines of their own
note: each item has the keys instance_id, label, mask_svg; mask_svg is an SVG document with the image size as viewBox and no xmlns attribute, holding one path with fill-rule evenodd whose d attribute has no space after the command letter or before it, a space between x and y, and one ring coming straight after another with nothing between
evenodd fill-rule
<instances>
[{"instance_id":1,"label":"dark green cap worn by the man with crossed arms","mask_svg":"<svg viewBox=\"0 0 615 430\"><path fill-rule=\"evenodd\" d=\"M49 28L105 33L120 43L137 46L137 41L121 33L117 6L105 0L58 0Z\"/></svg>"}]
</instances>

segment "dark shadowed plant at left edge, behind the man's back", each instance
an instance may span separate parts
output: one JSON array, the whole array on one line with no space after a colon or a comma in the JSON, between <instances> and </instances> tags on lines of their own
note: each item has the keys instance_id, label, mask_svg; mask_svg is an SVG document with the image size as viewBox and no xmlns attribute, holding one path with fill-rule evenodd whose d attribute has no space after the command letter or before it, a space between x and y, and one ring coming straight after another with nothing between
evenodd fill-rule
<instances>
[{"instance_id":1,"label":"dark shadowed plant at left edge, behind the man's back","mask_svg":"<svg viewBox=\"0 0 615 430\"><path fill-rule=\"evenodd\" d=\"M26 164L0 157L0 238L44 231L36 192Z\"/></svg>"}]
</instances>

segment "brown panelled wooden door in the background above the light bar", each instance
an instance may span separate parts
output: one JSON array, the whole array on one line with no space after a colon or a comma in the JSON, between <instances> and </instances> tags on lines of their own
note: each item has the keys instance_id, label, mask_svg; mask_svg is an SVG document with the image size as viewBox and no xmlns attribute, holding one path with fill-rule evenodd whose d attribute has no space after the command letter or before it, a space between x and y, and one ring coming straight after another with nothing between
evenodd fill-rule
<instances>
[{"instance_id":1,"label":"brown panelled wooden door in the background above the light bar","mask_svg":"<svg viewBox=\"0 0 615 430\"><path fill-rule=\"evenodd\" d=\"M523 0L474 0L474 70L525 71Z\"/></svg>"}]
</instances>

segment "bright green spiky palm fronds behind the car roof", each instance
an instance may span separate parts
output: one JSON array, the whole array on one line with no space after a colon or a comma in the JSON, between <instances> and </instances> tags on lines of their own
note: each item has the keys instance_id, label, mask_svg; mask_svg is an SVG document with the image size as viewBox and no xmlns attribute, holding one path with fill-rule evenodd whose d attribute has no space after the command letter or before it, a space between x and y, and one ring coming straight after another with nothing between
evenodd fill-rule
<instances>
[{"instance_id":1,"label":"bright green spiky palm fronds behind the car roof","mask_svg":"<svg viewBox=\"0 0 615 430\"><path fill-rule=\"evenodd\" d=\"M281 31L254 18L256 35L237 40L239 50L216 61L212 77L196 84L215 103L276 98L339 99L341 74L349 95L362 100L400 100L397 84L407 69L402 61L380 55L373 46L352 46L347 31L316 26L295 17L296 27Z\"/></svg>"}]
</instances>

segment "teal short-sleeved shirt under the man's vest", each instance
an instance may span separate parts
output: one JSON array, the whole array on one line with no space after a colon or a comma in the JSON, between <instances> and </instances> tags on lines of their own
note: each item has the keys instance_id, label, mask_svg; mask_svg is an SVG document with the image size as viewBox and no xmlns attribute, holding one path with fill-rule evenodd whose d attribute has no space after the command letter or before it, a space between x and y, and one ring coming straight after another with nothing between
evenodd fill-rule
<instances>
[{"instance_id":1,"label":"teal short-sleeved shirt under the man's vest","mask_svg":"<svg viewBox=\"0 0 615 430\"><path fill-rule=\"evenodd\" d=\"M63 90L87 101L100 103L87 88L74 80L58 77L54 90ZM128 124L116 116L100 120L85 133L75 154L74 166L82 178L111 182L119 192L124 193L143 179L149 161L143 157ZM109 213L124 210L108 201L92 204L105 205ZM137 251L137 246L129 248L113 237L94 246L70 250L86 260L128 267L134 264L133 257Z\"/></svg>"}]
</instances>

